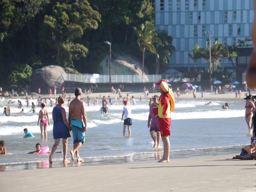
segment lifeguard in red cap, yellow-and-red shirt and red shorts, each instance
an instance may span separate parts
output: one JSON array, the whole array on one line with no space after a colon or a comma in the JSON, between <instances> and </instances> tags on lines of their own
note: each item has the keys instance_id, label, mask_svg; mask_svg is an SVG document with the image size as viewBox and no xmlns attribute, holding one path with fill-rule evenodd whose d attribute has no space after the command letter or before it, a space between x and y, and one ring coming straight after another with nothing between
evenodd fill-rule
<instances>
[{"instance_id":1,"label":"lifeguard in red cap, yellow-and-red shirt and red shorts","mask_svg":"<svg viewBox=\"0 0 256 192\"><path fill-rule=\"evenodd\" d=\"M156 85L158 85L158 92L161 93L159 97L159 107L158 107L158 122L159 129L164 145L164 154L162 159L158 162L170 162L169 154L170 154L170 141L169 136L171 135L170 125L171 125L171 116L170 116L170 99L167 94L164 93L160 84L162 82L166 83L166 80L160 80ZM167 83L166 83L167 84Z\"/></svg>"}]
</instances>

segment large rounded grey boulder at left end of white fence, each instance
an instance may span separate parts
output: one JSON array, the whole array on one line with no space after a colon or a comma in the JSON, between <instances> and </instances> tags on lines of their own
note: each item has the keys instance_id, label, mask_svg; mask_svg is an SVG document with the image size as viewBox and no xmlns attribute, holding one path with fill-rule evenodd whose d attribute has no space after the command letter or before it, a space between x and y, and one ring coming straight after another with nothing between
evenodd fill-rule
<instances>
[{"instance_id":1,"label":"large rounded grey boulder at left end of white fence","mask_svg":"<svg viewBox=\"0 0 256 192\"><path fill-rule=\"evenodd\" d=\"M31 75L31 89L32 91L38 92L38 88L41 88L42 93L48 93L49 88L62 86L64 83L63 76L65 75L66 72L60 66L56 65L50 65L34 70Z\"/></svg>"}]
</instances>

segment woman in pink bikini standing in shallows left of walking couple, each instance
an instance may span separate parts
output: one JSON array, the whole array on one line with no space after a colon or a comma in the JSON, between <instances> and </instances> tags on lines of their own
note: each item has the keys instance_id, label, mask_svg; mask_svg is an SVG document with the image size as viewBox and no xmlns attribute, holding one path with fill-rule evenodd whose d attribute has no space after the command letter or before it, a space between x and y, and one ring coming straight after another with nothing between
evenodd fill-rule
<instances>
[{"instance_id":1,"label":"woman in pink bikini standing in shallows left of walking couple","mask_svg":"<svg viewBox=\"0 0 256 192\"><path fill-rule=\"evenodd\" d=\"M48 125L50 125L50 121L49 121L48 111L44 107L45 107L45 104L42 103L41 110L39 111L37 126L40 120L41 139L47 140L47 127Z\"/></svg>"}]
</instances>

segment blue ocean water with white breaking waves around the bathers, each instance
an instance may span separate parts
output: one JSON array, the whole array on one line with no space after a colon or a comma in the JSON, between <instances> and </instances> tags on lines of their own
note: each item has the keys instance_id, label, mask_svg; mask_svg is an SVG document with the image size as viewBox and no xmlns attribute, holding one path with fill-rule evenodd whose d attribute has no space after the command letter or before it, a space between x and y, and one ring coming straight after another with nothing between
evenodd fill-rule
<instances>
[{"instance_id":1,"label":"blue ocean water with white breaking waves around the bathers","mask_svg":"<svg viewBox=\"0 0 256 192\"><path fill-rule=\"evenodd\" d=\"M85 98L85 96L84 96ZM36 113L18 114L21 110L16 102L10 104L11 116L0 114L0 140L5 141L6 155L0 155L0 171L49 168L60 166L82 166L95 164L115 164L138 161L157 161L162 156L162 141L160 148L152 148L148 120L148 100L136 100L132 107L131 127L132 137L123 137L123 122L121 104L109 107L108 114L100 114L100 106L86 106L88 117L88 132L86 142L79 153L84 162L63 164L63 154L54 154L53 164L48 163L48 154L27 154L34 151L36 143L48 146L51 150L54 144L52 136L52 107L48 107L50 126L48 140L41 140L40 127L37 126L40 108ZM13 101L14 101L13 100ZM25 104L24 100L21 100ZM3 111L8 99L0 100ZM30 100L35 102L36 100ZM170 158L190 158L192 156L240 154L240 149L250 143L250 136L244 118L244 100L214 101L182 100L175 104L172 112ZM222 110L222 105L228 102L230 110ZM66 106L66 103L64 104ZM65 107L68 116L68 107ZM28 112L30 108L24 107ZM23 138L23 129L28 128L34 138ZM128 131L126 129L126 134ZM73 138L68 139L68 151L72 149ZM62 150L62 142L57 151ZM70 154L67 155L70 160ZM231 158L227 156L227 158Z\"/></svg>"}]
</instances>

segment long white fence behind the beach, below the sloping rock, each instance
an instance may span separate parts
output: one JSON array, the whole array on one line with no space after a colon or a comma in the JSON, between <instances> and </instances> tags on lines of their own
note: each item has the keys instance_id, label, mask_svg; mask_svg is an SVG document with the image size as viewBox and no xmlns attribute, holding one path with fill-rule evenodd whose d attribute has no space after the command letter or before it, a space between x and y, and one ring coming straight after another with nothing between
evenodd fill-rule
<instances>
[{"instance_id":1,"label":"long white fence behind the beach, below the sloping rock","mask_svg":"<svg viewBox=\"0 0 256 192\"><path fill-rule=\"evenodd\" d=\"M109 83L109 75L100 74L62 74L65 81L83 82L83 83ZM111 75L112 83L141 83L158 82L161 79L170 79L170 75L144 75L143 81L141 75Z\"/></svg>"}]
</instances>

